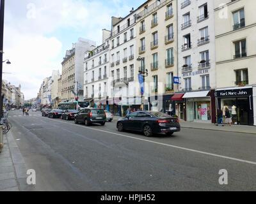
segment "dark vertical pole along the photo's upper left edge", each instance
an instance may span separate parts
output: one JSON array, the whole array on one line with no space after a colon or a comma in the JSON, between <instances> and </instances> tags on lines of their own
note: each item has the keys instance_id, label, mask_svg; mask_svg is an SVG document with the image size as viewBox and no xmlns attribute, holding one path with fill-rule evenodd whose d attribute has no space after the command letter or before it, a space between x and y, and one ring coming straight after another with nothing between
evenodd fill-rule
<instances>
[{"instance_id":1,"label":"dark vertical pole along the photo's upper left edge","mask_svg":"<svg viewBox=\"0 0 256 204\"><path fill-rule=\"evenodd\" d=\"M4 43L4 0L0 0L0 119L3 117L2 77L3 77L3 43Z\"/></svg>"}]
</instances>

